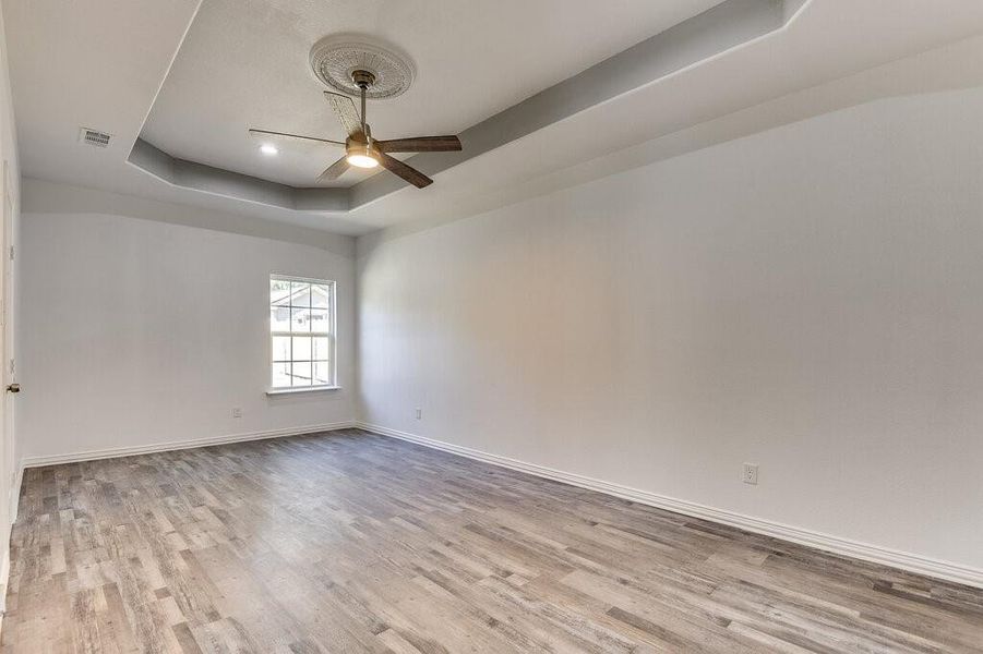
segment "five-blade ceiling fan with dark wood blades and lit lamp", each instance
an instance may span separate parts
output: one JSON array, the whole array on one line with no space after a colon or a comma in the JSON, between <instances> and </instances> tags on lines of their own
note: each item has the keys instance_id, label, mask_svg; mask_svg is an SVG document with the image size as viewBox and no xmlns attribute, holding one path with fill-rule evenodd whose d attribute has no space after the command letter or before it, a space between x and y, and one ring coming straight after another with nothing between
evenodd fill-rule
<instances>
[{"instance_id":1,"label":"five-blade ceiling fan with dark wood blades and lit lamp","mask_svg":"<svg viewBox=\"0 0 983 654\"><path fill-rule=\"evenodd\" d=\"M411 138L394 138L392 141L376 141L372 138L372 130L365 122L365 92L375 83L375 75L369 71L357 70L351 73L351 81L361 89L362 111L361 116L355 108L350 97L324 92L331 108L334 109L341 122L341 126L348 134L343 143L329 138L315 138L301 136L286 132L272 132L269 130L249 131L251 136L257 138L283 138L287 141L310 141L338 145L345 148L345 156L325 169L317 181L338 179L351 166L356 168L375 168L382 166L389 172L403 178L413 186L422 189L433 183L433 180L419 170L407 166L399 159L391 157L391 153L445 153L461 149L460 140L457 136L416 136Z\"/></svg>"}]
</instances>

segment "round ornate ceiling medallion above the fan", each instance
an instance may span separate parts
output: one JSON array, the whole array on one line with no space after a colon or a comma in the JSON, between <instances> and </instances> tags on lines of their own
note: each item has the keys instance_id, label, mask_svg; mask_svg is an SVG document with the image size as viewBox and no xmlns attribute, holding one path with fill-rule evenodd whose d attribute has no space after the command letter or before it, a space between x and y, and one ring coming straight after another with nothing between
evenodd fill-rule
<instances>
[{"instance_id":1,"label":"round ornate ceiling medallion above the fan","mask_svg":"<svg viewBox=\"0 0 983 654\"><path fill-rule=\"evenodd\" d=\"M311 49L314 75L328 87L358 97L361 89L352 81L355 71L375 75L365 97L374 100L403 95L413 83L413 66L405 59L372 44L350 40L350 37L328 36Z\"/></svg>"}]
</instances>

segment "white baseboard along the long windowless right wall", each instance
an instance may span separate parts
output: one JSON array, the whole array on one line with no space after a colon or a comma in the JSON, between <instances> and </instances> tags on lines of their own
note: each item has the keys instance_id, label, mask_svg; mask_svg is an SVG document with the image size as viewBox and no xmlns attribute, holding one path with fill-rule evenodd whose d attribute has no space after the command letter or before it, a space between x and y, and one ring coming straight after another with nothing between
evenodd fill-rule
<instances>
[{"instance_id":1,"label":"white baseboard along the long windowless right wall","mask_svg":"<svg viewBox=\"0 0 983 654\"><path fill-rule=\"evenodd\" d=\"M571 472L564 472L562 470L554 470L552 468L538 465L536 463L527 463L525 461L483 452L481 450L476 450L460 445L444 443L442 440L434 440L433 438L427 438L424 436L417 436L416 434L409 434L407 432L391 429L388 427L383 427L382 425L373 425L364 422L359 422L358 426L369 432L381 434L383 436L392 436L393 438L409 440L410 443L416 443L425 447L443 450L445 452L451 452L454 455L459 455L461 457L467 457L468 459L476 459L478 461L483 461L493 465L501 465L502 468L508 468L511 470L526 472L536 476L546 477L548 480L563 482L572 486L578 486L580 488L587 488L589 491L597 491L599 493L613 495L614 497L621 497L623 499L630 499L632 501L637 501L638 504L656 507L658 509L666 509L667 511L673 511L675 513L682 513L684 516L692 516L693 518L700 518L703 520L709 520L711 522L735 526L738 529L754 532L756 534L771 536L775 538L780 538L782 541L789 541L799 545L806 545L808 547L814 547L816 549L822 549L831 554L862 559L873 564L879 564L909 572L916 572L926 577L933 577L935 579L942 579L945 581L951 581L983 589L983 570L976 568L970 568L968 566L961 566L959 564L932 559L906 552L898 552L896 549L889 549L887 547L880 547L878 545L871 545L868 543L859 543L849 538L841 538L839 536L832 536L799 526L791 526L788 524L781 524L779 522L772 522L770 520L763 520L760 518L744 516L741 513L735 513L733 511L715 509L712 507L707 507L692 501L675 499L673 497L666 497L663 495L657 495L655 493L649 493L648 491L639 491L638 488L632 488L630 486L623 486L621 484L596 480Z\"/></svg>"}]
</instances>

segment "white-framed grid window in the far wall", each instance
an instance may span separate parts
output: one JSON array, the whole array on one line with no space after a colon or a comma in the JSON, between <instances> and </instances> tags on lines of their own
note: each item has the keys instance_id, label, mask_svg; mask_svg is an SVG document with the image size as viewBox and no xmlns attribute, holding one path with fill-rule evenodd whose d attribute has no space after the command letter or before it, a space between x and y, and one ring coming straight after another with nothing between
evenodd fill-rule
<instances>
[{"instance_id":1,"label":"white-framed grid window in the far wall","mask_svg":"<svg viewBox=\"0 0 983 654\"><path fill-rule=\"evenodd\" d=\"M336 386L335 282L269 276L273 390Z\"/></svg>"}]
</instances>

